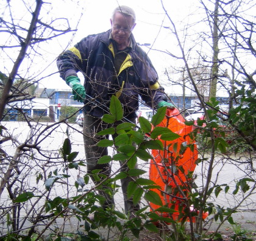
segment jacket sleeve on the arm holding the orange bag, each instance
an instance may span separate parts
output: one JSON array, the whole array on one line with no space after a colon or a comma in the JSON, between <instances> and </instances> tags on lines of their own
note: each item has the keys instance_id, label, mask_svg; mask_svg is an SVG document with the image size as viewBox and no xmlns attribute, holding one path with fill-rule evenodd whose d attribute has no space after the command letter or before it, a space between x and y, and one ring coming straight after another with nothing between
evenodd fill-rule
<instances>
[{"instance_id":1,"label":"jacket sleeve on the arm holding the orange bag","mask_svg":"<svg viewBox=\"0 0 256 241\"><path fill-rule=\"evenodd\" d=\"M165 89L158 83L157 71L151 63L149 57L141 50L139 58L139 73L141 82L141 99L151 108L156 108L157 103L162 100L167 101Z\"/></svg>"}]
</instances>

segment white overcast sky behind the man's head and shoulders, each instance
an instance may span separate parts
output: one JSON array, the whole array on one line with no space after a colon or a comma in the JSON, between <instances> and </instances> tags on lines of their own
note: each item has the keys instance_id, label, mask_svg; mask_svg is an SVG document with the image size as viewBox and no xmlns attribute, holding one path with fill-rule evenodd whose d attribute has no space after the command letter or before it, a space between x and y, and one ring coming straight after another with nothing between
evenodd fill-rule
<instances>
[{"instance_id":1,"label":"white overcast sky behind the man's head and shoulders","mask_svg":"<svg viewBox=\"0 0 256 241\"><path fill-rule=\"evenodd\" d=\"M73 33L69 33L65 37L60 38L59 41L54 41L54 44L48 44L49 52L51 53L51 57L49 57L50 60L54 61L54 58L56 58L63 49L73 46L77 41L80 41L87 35L110 29L110 18L113 9L115 9L118 4L129 5L135 10L137 26L133 30L133 35L138 43L149 43L153 49L162 50L168 49L170 45L177 44L176 40L168 40L169 30L161 27L162 25L166 26L166 24L170 26L170 23L165 17L160 0L87 0L80 1L79 5L74 5L72 1L65 1L65 4L59 4L59 2L59 0L52 2L52 15L59 18L65 16L69 19L73 29L76 27L79 19L80 22L74 36ZM194 9L196 9L196 6L191 4L190 0L165 0L163 3L169 15L171 15L175 21L182 21L189 12L193 13ZM82 17L80 17L81 12L83 13ZM146 52L149 51L147 47L143 47L143 49ZM149 51L149 57L161 79L162 72L165 67L168 66L168 61L166 61L165 58L169 57L155 51ZM163 66L163 63L165 63L165 66ZM55 63L52 63L46 72L55 71L57 71L57 68ZM41 83L47 88L67 88L65 82L60 79L59 74L52 75Z\"/></svg>"}]
</instances>

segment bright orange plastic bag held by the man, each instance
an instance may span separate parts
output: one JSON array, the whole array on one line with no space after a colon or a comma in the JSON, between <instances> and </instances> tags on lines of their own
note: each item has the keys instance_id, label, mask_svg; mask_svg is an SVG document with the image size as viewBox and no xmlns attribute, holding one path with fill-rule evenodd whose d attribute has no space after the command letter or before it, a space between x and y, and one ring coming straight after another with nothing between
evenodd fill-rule
<instances>
[{"instance_id":1,"label":"bright orange plastic bag held by the man","mask_svg":"<svg viewBox=\"0 0 256 241\"><path fill-rule=\"evenodd\" d=\"M152 150L149 168L149 178L154 181L161 190L154 189L162 198L163 205L174 209L175 212L157 212L162 217L179 220L180 212L185 208L184 199L190 192L190 180L188 173L193 172L196 167L197 148L194 141L188 136L192 126L184 124L184 119L177 109L166 110L166 117L158 126L168 127L169 130L180 135L174 141L162 141L165 150ZM186 147L190 145L190 147ZM182 149L181 149L182 148ZM181 153L180 150L183 150ZM180 190L182 192L180 192ZM160 208L157 204L151 203L151 211ZM194 222L194 220L193 220Z\"/></svg>"}]
</instances>

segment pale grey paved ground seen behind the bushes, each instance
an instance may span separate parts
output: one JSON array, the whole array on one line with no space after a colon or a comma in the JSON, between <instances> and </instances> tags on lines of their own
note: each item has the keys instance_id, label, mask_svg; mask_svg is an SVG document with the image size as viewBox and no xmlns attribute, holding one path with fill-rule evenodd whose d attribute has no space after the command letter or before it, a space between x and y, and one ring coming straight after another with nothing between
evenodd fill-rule
<instances>
[{"instance_id":1,"label":"pale grey paved ground seen behind the bushes","mask_svg":"<svg viewBox=\"0 0 256 241\"><path fill-rule=\"evenodd\" d=\"M32 141L30 141L31 144L33 144L37 138L38 141L40 141L40 148L43 150L43 155L41 155L37 151L34 151L34 155L37 156L38 159L27 158L26 163L28 166L30 166L30 168L27 170L27 172L21 173L21 175L23 175L22 178L24 178L24 182L29 185L29 187L31 188L31 190L33 190L35 194L40 195L45 190L43 181L39 181L37 184L38 172L43 172L44 170L44 172L48 175L49 172L57 170L59 174L63 173L62 166L59 163L62 161L62 159L59 157L59 150L63 145L63 140L67 136L69 136L69 138L71 139L72 151L79 152L77 159L85 162L84 141L81 133L82 128L79 127L79 125L71 124L71 127L67 127L65 124L60 124L57 127L54 126L49 128L49 125L44 124L40 126L35 126L32 133L30 133L29 127L25 122L2 122L2 125L4 125L9 133L12 134L15 141L22 143L26 141L27 136L32 136ZM41 136L38 136L38 133L41 132L43 132L43 134L41 134ZM45 138L45 136L47 136L47 138ZM15 152L15 147L16 145L18 145L18 142L5 142L5 144L2 145L2 148L11 155L11 153ZM109 148L109 151L112 152L112 148ZM49 158L56 159L54 159L54 162L49 162ZM226 159L221 159L217 156L215 162L216 166L212 176L213 181L215 180L215 178L218 177L217 183L229 185L230 192L235 189L235 183L233 180L240 180L241 177L247 175L249 172L249 169L247 169L247 166L245 164L240 164L239 167L235 167L228 157ZM141 169L149 169L148 162L140 161L138 165ZM118 167L119 164L113 163L112 171L115 172ZM196 167L195 173L197 174L197 186L202 186L205 183L205 169L207 169L207 162L204 162L203 164L200 164ZM77 180L77 177L82 177L85 173L86 167L80 167L77 170L69 170L68 174L71 175L71 178L69 178L69 183L65 185L63 185L62 183L55 183L54 189L52 189L51 191L51 197L56 197L57 195L59 195L60 197L72 197L72 195L77 195L77 189L74 187L74 182ZM3 173L1 173L1 175L2 174ZM252 174L253 173L251 173L251 175ZM145 177L148 177L147 173L145 174ZM91 183L85 186L84 189L88 189L90 187ZM213 195L212 201L215 204L219 204L220 206L233 207L233 205L237 204L241 200L241 198L243 198L243 194L240 192L238 195L233 197L230 192L226 195L224 194L224 192L221 192L217 198ZM9 203L7 197L8 195L5 192L5 195L1 197L2 206L6 206L7 203ZM249 198L246 203L244 203L244 206L240 208L241 211L238 211L235 215L233 215L235 222L237 222L238 224L241 223L244 228L250 229L252 231L256 230L255 203L256 195L254 194L251 198ZM37 203L38 210L43 204L43 201ZM121 189L115 195L115 204L116 209L118 209L119 211L123 211L124 205ZM244 211L244 209L247 208L254 210L254 212ZM29 207L27 206L26 212L28 210ZM73 222L70 223L70 225L74 227L76 226L76 224ZM232 227L229 225L229 223L224 226L224 229L230 228Z\"/></svg>"}]
</instances>

